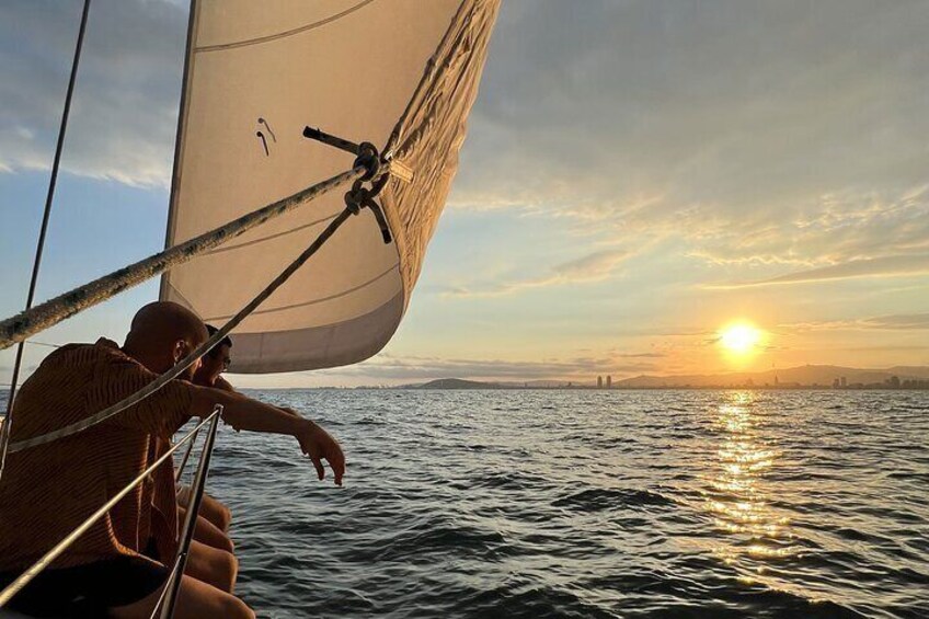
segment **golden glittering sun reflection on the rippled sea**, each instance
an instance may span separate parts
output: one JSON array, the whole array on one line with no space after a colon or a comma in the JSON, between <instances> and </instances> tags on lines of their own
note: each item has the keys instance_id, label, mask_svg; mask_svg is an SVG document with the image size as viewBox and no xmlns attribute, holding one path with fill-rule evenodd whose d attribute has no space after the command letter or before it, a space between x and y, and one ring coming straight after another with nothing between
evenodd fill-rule
<instances>
[{"instance_id":1,"label":"golden glittering sun reflection on the rippled sea","mask_svg":"<svg viewBox=\"0 0 929 619\"><path fill-rule=\"evenodd\" d=\"M704 502L715 526L727 534L729 543L718 546L713 552L726 563L755 560L753 568L760 574L766 561L794 554L789 518L770 507L764 484L764 477L775 467L779 454L756 431L753 404L757 394L736 391L725 398L715 420L722 445L716 450L715 472Z\"/></svg>"}]
</instances>

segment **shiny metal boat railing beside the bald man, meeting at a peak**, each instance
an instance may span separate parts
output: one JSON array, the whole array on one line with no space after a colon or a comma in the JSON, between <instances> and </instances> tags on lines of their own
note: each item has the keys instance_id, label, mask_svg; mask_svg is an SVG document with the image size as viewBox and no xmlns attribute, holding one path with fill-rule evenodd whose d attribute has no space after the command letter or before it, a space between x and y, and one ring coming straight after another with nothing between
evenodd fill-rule
<instances>
[{"instance_id":1,"label":"shiny metal boat railing beside the bald man, meeting at a peak","mask_svg":"<svg viewBox=\"0 0 929 619\"><path fill-rule=\"evenodd\" d=\"M203 493L206 488L206 478L209 472L209 462L210 456L213 455L213 448L216 443L216 432L219 427L219 419L222 415L222 406L217 404L214 408L213 412L204 417L193 429L186 433L183 437L176 440L164 454L162 454L157 460L154 460L151 465L149 465L141 473L139 473L134 480L127 483L119 492L113 495L106 503L104 503L96 512L91 514L83 523L78 525L65 539L59 541L51 550L46 552L42 559L36 561L32 566L30 566L25 572L20 574L20 576L14 580L10 585L8 585L2 592L0 592L0 609L2 609L20 591L23 589L30 582L32 582L38 574L46 570L55 559L61 555L72 543L74 543L87 530L93 526L94 523L100 520L104 515L106 515L110 509L113 508L119 501L123 500L134 488L136 488L139 483L142 482L148 475L150 475L158 467L163 466L165 461L173 462L172 456L177 449L180 449L183 445L187 445L186 452L184 454L184 458L179 467L180 471L183 471L186 466L187 459L193 451L194 445L196 444L197 437L199 436L200 431L206 427L206 438L204 439L203 447L200 449L199 461L197 463L197 470L194 474L194 478L191 483L191 501L187 505L187 512L184 517L184 524L181 527L181 531L179 534L179 550L177 554L174 559L171 572L169 574L168 581L162 589L161 597L158 600L158 604L152 611L152 618L160 619L169 619L174 615L174 606L177 600L177 592L181 588L182 574L184 572L184 568L187 563L187 557L190 555L191 542L194 537L194 529L196 527L196 517L199 512L200 503L203 501ZM177 474L177 479L180 479L180 472Z\"/></svg>"}]
</instances>

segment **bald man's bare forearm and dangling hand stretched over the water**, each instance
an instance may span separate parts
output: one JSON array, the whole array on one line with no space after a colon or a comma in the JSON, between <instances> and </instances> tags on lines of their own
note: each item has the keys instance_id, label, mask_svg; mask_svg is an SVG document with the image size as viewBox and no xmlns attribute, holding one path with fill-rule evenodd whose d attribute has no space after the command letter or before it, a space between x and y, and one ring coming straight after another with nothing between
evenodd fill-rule
<instances>
[{"instance_id":1,"label":"bald man's bare forearm and dangling hand stretched over the water","mask_svg":"<svg viewBox=\"0 0 929 619\"><path fill-rule=\"evenodd\" d=\"M228 385L228 383L227 383ZM237 431L266 432L293 436L300 444L303 454L310 457L319 479L325 477L322 460L326 460L335 474L335 483L342 485L345 474L345 456L339 443L323 428L303 419L293 411L285 412L277 406L264 404L222 389L190 386L193 390L191 412L204 417L213 412L216 404L222 404L222 420Z\"/></svg>"}]
</instances>

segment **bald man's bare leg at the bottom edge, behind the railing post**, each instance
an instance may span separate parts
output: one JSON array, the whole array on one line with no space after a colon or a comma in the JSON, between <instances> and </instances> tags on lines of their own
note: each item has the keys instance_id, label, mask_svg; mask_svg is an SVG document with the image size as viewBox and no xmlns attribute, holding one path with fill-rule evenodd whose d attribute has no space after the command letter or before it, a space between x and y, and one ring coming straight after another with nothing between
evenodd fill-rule
<instances>
[{"instance_id":1,"label":"bald man's bare leg at the bottom edge, behind the railing post","mask_svg":"<svg viewBox=\"0 0 929 619\"><path fill-rule=\"evenodd\" d=\"M116 619L148 619L151 611L154 610L154 605L158 604L162 588L164 587L134 604L111 608L110 616ZM191 576L183 576L174 617L176 619L203 619L205 617L254 619L255 614L238 597Z\"/></svg>"}]
</instances>

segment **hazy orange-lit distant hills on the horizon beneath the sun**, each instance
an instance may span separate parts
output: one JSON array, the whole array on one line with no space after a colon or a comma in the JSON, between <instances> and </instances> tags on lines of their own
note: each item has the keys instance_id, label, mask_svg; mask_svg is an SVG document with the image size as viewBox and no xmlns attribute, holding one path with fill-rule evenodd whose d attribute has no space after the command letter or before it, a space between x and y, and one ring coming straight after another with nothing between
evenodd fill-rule
<instances>
[{"instance_id":1,"label":"hazy orange-lit distant hills on the horizon beneath the sun","mask_svg":"<svg viewBox=\"0 0 929 619\"><path fill-rule=\"evenodd\" d=\"M887 369L860 369L841 366L806 365L800 367L771 369L767 371L745 371L716 375L678 375L678 376L636 376L617 381L617 387L742 387L748 383L762 387L765 385L782 386L822 385L829 387L836 379L845 377L848 385L872 385L884 382L892 376L901 380L929 378L929 367L892 367Z\"/></svg>"}]
</instances>

